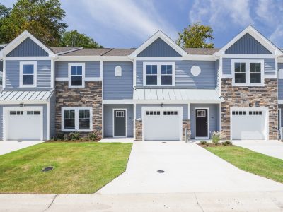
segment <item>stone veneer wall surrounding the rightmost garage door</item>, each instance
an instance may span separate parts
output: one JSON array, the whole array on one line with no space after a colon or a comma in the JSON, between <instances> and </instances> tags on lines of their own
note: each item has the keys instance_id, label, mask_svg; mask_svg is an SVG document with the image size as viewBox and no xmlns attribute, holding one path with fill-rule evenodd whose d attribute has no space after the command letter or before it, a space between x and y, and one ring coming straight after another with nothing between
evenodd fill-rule
<instances>
[{"instance_id":1,"label":"stone veneer wall surrounding the rightmost garage door","mask_svg":"<svg viewBox=\"0 0 283 212\"><path fill-rule=\"evenodd\" d=\"M277 140L278 99L277 79L265 79L265 86L232 86L232 79L221 80L221 131L230 139L230 107L249 107L259 102L260 107L268 107L269 139Z\"/></svg>"}]
</instances>

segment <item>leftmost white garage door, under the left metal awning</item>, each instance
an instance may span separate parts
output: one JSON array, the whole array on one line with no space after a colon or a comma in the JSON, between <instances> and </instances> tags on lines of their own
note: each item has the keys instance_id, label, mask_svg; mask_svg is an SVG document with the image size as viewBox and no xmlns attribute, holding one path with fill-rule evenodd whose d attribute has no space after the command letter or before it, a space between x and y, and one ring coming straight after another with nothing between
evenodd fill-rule
<instances>
[{"instance_id":1,"label":"leftmost white garage door, under the left metal awning","mask_svg":"<svg viewBox=\"0 0 283 212\"><path fill-rule=\"evenodd\" d=\"M42 140L42 108L6 110L6 140Z\"/></svg>"}]
</instances>

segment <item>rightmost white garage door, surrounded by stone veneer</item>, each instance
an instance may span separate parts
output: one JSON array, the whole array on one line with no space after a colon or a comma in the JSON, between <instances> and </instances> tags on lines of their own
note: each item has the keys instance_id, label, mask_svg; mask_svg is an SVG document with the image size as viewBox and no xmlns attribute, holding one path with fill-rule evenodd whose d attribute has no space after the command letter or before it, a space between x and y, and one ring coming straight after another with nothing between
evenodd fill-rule
<instances>
[{"instance_id":1,"label":"rightmost white garage door, surrounded by stone veneer","mask_svg":"<svg viewBox=\"0 0 283 212\"><path fill-rule=\"evenodd\" d=\"M267 139L267 110L243 107L231 110L231 136L234 140Z\"/></svg>"}]
</instances>

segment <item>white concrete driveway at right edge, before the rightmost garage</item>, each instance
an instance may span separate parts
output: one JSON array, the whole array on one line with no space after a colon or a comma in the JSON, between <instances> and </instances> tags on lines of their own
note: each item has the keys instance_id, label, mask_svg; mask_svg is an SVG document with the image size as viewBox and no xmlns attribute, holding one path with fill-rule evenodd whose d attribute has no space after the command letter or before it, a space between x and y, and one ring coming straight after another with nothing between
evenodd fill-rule
<instances>
[{"instance_id":1,"label":"white concrete driveway at right edge, before the rightmost garage","mask_svg":"<svg viewBox=\"0 0 283 212\"><path fill-rule=\"evenodd\" d=\"M283 160L283 142L281 141L233 141L233 144Z\"/></svg>"}]
</instances>

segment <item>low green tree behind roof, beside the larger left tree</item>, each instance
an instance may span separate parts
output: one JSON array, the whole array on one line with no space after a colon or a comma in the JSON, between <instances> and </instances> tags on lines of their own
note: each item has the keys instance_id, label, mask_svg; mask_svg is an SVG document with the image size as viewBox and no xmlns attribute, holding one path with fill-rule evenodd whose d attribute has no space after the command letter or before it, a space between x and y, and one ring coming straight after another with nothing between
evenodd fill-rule
<instances>
[{"instance_id":1,"label":"low green tree behind roof, beside the larger left tree","mask_svg":"<svg viewBox=\"0 0 283 212\"><path fill-rule=\"evenodd\" d=\"M77 30L72 30L64 33L60 45L62 47L85 47L85 48L103 48L93 38L79 33Z\"/></svg>"}]
</instances>

